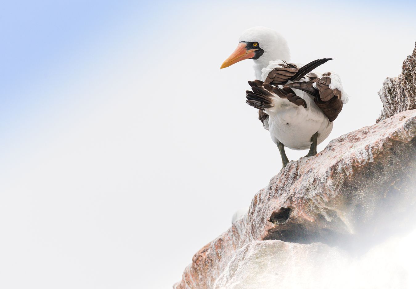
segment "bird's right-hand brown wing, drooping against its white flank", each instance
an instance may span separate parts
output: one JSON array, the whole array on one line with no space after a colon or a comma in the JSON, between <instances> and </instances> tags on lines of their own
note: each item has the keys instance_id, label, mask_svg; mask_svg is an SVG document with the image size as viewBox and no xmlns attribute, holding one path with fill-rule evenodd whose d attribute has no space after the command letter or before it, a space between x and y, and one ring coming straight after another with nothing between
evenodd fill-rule
<instances>
[{"instance_id":1,"label":"bird's right-hand brown wing, drooping against its white flank","mask_svg":"<svg viewBox=\"0 0 416 289\"><path fill-rule=\"evenodd\" d=\"M323 74L325 75L325 74ZM316 88L313 87L316 83ZM331 78L323 76L321 78L314 78L311 81L293 82L286 86L305 91L314 97L314 102L326 115L330 122L334 121L342 110L342 93L339 89L329 88Z\"/></svg>"}]
</instances>

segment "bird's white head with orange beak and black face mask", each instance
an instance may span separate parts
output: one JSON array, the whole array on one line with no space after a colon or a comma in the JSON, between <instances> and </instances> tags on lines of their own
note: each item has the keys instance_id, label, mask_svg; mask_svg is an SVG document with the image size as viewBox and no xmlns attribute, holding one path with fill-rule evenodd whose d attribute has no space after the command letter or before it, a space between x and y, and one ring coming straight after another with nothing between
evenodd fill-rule
<instances>
[{"instance_id":1,"label":"bird's white head with orange beak and black face mask","mask_svg":"<svg viewBox=\"0 0 416 289\"><path fill-rule=\"evenodd\" d=\"M261 70L271 60L290 60L287 41L275 30L256 26L243 32L238 39L240 42L230 57L224 61L221 68L228 67L244 59L254 60L256 77L261 76Z\"/></svg>"}]
</instances>

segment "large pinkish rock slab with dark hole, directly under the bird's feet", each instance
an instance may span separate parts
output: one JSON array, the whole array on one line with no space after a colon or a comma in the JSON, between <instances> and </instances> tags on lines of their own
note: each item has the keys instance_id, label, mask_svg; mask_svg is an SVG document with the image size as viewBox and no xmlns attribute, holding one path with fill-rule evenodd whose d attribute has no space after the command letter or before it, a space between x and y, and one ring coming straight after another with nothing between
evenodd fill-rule
<instances>
[{"instance_id":1,"label":"large pinkish rock slab with dark hole, directly under the bird's feet","mask_svg":"<svg viewBox=\"0 0 416 289\"><path fill-rule=\"evenodd\" d=\"M255 240L352 249L413 224L415 135L416 110L408 110L290 162L255 195L247 215L195 254L174 288L212 289L235 253ZM402 219L408 223L396 222Z\"/></svg>"}]
</instances>

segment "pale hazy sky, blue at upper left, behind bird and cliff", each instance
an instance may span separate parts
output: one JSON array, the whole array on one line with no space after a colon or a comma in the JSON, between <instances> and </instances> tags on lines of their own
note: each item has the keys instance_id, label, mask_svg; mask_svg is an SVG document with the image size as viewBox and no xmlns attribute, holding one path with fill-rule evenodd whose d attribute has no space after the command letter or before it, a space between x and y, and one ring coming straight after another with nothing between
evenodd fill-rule
<instances>
[{"instance_id":1,"label":"pale hazy sky, blue at upper left, behind bird and cliff","mask_svg":"<svg viewBox=\"0 0 416 289\"><path fill-rule=\"evenodd\" d=\"M245 104L248 27L292 60L332 57L350 102L333 138L379 115L416 41L415 4L71 1L0 12L0 287L169 288L281 168ZM306 151L287 150L290 159Z\"/></svg>"}]
</instances>

